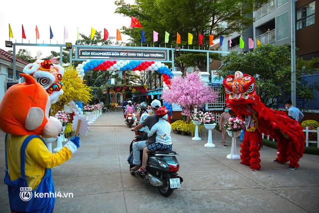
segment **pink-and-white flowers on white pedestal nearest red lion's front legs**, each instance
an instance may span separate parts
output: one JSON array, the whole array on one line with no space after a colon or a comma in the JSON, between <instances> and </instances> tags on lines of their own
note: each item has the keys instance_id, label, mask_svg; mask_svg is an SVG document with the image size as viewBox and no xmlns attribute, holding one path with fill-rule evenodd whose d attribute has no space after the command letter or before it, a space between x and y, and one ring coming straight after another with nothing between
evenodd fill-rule
<instances>
[{"instance_id":1,"label":"pink-and-white flowers on white pedestal nearest red lion's front legs","mask_svg":"<svg viewBox=\"0 0 319 213\"><path fill-rule=\"evenodd\" d=\"M231 160L240 159L240 156L237 154L236 138L238 138L241 131L245 129L245 122L240 120L238 117L230 117L225 123L224 128L228 135L232 137L231 152L227 155L227 158Z\"/></svg>"}]
</instances>

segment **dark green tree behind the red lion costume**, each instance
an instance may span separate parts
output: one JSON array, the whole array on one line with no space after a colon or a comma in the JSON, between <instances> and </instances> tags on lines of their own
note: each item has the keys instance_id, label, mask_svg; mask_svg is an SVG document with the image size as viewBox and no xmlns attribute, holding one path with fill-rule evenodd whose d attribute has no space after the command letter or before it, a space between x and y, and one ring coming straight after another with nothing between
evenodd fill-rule
<instances>
[{"instance_id":1,"label":"dark green tree behind the red lion costume","mask_svg":"<svg viewBox=\"0 0 319 213\"><path fill-rule=\"evenodd\" d=\"M256 92L263 103L274 106L277 98L286 98L291 92L291 59L290 46L259 45L253 52L246 54L231 52L224 57L220 76L226 77L239 70L255 77ZM302 76L319 71L315 64L319 58L312 60L296 59L297 95L306 100L314 99L318 85L308 85Z\"/></svg>"}]
</instances>

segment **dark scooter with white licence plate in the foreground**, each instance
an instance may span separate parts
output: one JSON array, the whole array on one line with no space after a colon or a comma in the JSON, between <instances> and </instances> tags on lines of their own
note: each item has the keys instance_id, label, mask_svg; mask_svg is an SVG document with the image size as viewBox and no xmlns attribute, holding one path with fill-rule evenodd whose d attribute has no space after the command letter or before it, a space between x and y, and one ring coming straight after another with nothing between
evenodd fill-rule
<instances>
[{"instance_id":1,"label":"dark scooter with white licence plate in the foreground","mask_svg":"<svg viewBox=\"0 0 319 213\"><path fill-rule=\"evenodd\" d=\"M136 133L135 139L130 145L130 155L128 162L130 169L133 165L133 143L147 139L147 135L143 133ZM180 188L183 179L178 176L179 163L176 159L178 154L174 151L164 150L149 153L149 159L147 163L146 173L137 173L131 171L131 175L137 175L142 179L145 179L153 187L157 187L160 195L169 197L174 190ZM141 151L141 160L143 159L143 151Z\"/></svg>"}]
</instances>

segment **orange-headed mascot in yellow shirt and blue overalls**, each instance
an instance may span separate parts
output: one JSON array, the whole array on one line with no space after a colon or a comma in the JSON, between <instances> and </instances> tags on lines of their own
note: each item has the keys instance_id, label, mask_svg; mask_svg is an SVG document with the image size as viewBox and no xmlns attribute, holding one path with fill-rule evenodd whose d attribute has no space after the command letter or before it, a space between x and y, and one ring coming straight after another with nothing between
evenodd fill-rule
<instances>
[{"instance_id":1,"label":"orange-headed mascot in yellow shirt and blue overalls","mask_svg":"<svg viewBox=\"0 0 319 213\"><path fill-rule=\"evenodd\" d=\"M5 136L5 178L11 212L51 213L54 184L51 168L69 160L80 146L73 137L52 154L41 137L55 137L61 122L50 117L50 98L32 76L11 86L0 102L0 129ZM39 197L44 195L44 198Z\"/></svg>"}]
</instances>

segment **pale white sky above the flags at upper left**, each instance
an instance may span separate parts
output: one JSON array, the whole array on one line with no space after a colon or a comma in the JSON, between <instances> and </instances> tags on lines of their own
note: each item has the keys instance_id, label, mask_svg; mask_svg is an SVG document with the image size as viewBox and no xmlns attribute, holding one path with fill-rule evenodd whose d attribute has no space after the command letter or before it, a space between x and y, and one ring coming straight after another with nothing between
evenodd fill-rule
<instances>
[{"instance_id":1,"label":"pale white sky above the flags at upper left","mask_svg":"<svg viewBox=\"0 0 319 213\"><path fill-rule=\"evenodd\" d=\"M26 39L23 43L35 43L35 25L39 30L40 39L37 43L50 43L50 28L53 38L51 43L63 43L64 27L68 29L68 39L65 42L75 43L77 39L77 27L79 32L89 35L91 27L97 31L106 28L109 36L116 36L116 29L122 26L130 26L131 18L122 14L114 13L115 0L0 0L0 48L12 50L5 47L5 40L9 39L10 23L13 39L17 43L22 42L23 24ZM125 0L134 3L134 0ZM122 40L126 41L127 35L122 34ZM38 51L42 52L41 57L50 55L50 51L59 52L59 47L32 47L18 46L18 49L25 48L35 56Z\"/></svg>"}]
</instances>

